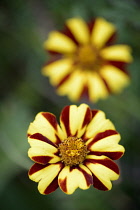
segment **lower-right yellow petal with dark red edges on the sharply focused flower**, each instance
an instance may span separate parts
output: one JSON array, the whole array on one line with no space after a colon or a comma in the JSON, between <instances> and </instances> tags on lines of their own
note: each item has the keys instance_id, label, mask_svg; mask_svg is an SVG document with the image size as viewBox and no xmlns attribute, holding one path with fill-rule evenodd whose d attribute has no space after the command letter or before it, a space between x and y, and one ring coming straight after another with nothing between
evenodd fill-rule
<instances>
[{"instance_id":1,"label":"lower-right yellow petal with dark red edges on the sharply focused flower","mask_svg":"<svg viewBox=\"0 0 140 210\"><path fill-rule=\"evenodd\" d=\"M117 165L106 156L87 156L86 166L93 173L93 185L99 190L110 190L111 180L119 178Z\"/></svg>"}]
</instances>

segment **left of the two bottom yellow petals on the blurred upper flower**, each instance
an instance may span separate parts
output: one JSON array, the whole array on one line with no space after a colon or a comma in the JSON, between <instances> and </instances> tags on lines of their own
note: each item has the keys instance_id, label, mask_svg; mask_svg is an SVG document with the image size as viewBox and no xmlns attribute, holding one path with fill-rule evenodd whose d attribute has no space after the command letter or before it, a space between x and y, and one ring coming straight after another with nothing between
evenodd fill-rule
<instances>
[{"instance_id":1,"label":"left of the two bottom yellow petals on the blurred upper flower","mask_svg":"<svg viewBox=\"0 0 140 210\"><path fill-rule=\"evenodd\" d=\"M71 101L77 101L81 96L85 80L85 75L75 69L70 78L57 89L58 94L68 95Z\"/></svg>"}]
</instances>

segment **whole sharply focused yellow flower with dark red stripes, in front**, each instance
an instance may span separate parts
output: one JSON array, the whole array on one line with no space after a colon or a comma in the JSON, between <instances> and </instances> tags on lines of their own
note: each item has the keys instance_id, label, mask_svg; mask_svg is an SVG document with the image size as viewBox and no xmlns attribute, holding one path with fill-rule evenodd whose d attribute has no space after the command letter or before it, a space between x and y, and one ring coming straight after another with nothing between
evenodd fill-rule
<instances>
[{"instance_id":1,"label":"whole sharply focused yellow flower with dark red stripes, in front","mask_svg":"<svg viewBox=\"0 0 140 210\"><path fill-rule=\"evenodd\" d=\"M53 114L40 112L29 126L28 140L28 155L36 162L29 177L39 182L41 194L58 186L66 194L90 185L106 191L112 188L111 180L119 178L119 168L112 160L124 153L118 144L120 134L104 112L86 104L66 106L60 126Z\"/></svg>"}]
</instances>

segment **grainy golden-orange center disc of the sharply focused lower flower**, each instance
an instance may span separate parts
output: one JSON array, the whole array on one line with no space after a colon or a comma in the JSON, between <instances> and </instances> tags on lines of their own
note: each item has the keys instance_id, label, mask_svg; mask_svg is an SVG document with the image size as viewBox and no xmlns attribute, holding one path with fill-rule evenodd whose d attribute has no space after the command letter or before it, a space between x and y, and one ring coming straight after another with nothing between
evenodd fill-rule
<instances>
[{"instance_id":1,"label":"grainy golden-orange center disc of the sharply focused lower flower","mask_svg":"<svg viewBox=\"0 0 140 210\"><path fill-rule=\"evenodd\" d=\"M61 161L65 165L77 165L85 160L87 146L81 138L68 137L59 144Z\"/></svg>"}]
</instances>

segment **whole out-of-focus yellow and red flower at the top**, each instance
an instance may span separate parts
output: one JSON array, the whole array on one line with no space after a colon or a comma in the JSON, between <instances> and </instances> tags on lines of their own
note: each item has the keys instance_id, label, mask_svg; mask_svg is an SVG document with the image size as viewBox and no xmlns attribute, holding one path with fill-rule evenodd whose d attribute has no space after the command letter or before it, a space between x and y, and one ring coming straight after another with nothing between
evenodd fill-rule
<instances>
[{"instance_id":1,"label":"whole out-of-focus yellow and red flower at the top","mask_svg":"<svg viewBox=\"0 0 140 210\"><path fill-rule=\"evenodd\" d=\"M42 73L50 77L59 95L77 101L88 96L90 101L117 93L129 83L125 70L132 61L130 47L111 45L115 26L103 18L87 24L80 18L66 21L64 32L53 31L44 43L52 55Z\"/></svg>"}]
</instances>

